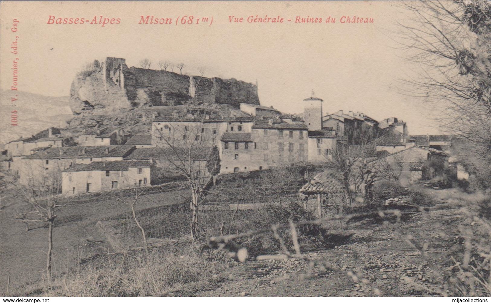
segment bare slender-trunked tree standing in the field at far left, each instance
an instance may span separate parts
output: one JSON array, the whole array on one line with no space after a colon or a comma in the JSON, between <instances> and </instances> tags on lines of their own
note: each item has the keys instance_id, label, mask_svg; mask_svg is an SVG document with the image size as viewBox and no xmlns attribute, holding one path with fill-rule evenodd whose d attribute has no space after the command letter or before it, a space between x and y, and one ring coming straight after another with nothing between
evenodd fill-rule
<instances>
[{"instance_id":1,"label":"bare slender-trunked tree standing in the field at far left","mask_svg":"<svg viewBox=\"0 0 491 303\"><path fill-rule=\"evenodd\" d=\"M55 168L55 169L53 169ZM18 177L11 175L9 178L8 192L12 193L13 199L22 202L22 211L17 214L16 219L23 221L27 226L32 223L45 223L48 227L46 251L46 277L52 278L53 259L53 229L58 213L63 207L69 206L71 200L61 194L61 167L51 167L49 172L44 169L39 172L36 167L25 167L22 171L29 184L21 185Z\"/></svg>"}]
</instances>

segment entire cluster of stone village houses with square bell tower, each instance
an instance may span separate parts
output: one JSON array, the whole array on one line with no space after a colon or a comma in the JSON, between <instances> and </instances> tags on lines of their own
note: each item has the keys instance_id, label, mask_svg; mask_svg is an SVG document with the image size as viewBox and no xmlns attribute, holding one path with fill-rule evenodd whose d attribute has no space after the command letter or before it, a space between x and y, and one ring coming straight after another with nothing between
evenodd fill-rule
<instances>
[{"instance_id":1,"label":"entire cluster of stone village houses with square bell tower","mask_svg":"<svg viewBox=\"0 0 491 303\"><path fill-rule=\"evenodd\" d=\"M451 157L451 136L409 135L406 122L396 117L377 121L343 110L323 115L325 101L314 92L299 102L304 105L301 115L248 103L240 103L229 116L213 111L152 112L148 131L131 136L99 125L78 136L49 128L5 144L1 164L25 186L60 180L64 195L158 185L156 172L172 171L171 163L182 160L176 148L196 151L196 174L210 173L207 163L214 150L219 162L215 173L228 174L322 165L332 160L339 146L363 146L368 154L360 157L390 163L411 184L449 171L456 180L465 177Z\"/></svg>"}]
</instances>

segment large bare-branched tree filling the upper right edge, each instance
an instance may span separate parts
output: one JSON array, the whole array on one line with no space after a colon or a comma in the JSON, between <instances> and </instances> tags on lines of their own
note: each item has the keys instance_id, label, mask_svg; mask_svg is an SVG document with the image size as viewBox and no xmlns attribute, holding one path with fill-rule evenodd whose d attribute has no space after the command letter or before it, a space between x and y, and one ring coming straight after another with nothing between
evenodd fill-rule
<instances>
[{"instance_id":1,"label":"large bare-branched tree filling the upper right edge","mask_svg":"<svg viewBox=\"0 0 491 303\"><path fill-rule=\"evenodd\" d=\"M419 67L404 83L437 113L442 129L468 142L474 173L491 181L491 2L404 2L411 21L398 38ZM465 155L463 155L465 157Z\"/></svg>"}]
</instances>

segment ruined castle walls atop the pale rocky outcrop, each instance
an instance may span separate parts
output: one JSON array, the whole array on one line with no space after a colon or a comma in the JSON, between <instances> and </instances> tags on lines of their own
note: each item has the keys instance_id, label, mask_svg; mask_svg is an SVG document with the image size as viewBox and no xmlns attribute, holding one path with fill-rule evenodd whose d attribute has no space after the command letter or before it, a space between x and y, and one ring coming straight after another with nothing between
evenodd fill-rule
<instances>
[{"instance_id":1,"label":"ruined castle walls atop the pale rocky outcrop","mask_svg":"<svg viewBox=\"0 0 491 303\"><path fill-rule=\"evenodd\" d=\"M74 79L70 107L74 114L104 113L135 107L185 104L259 104L257 86L236 79L179 75L128 66L123 58L106 58Z\"/></svg>"}]
</instances>

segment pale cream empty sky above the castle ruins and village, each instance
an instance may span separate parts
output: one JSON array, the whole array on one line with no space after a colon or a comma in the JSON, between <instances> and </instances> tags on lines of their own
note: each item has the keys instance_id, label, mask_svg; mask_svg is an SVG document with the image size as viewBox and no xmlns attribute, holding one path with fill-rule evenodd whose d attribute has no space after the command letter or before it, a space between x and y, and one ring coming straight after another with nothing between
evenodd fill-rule
<instances>
[{"instance_id":1,"label":"pale cream empty sky above the castle ruins and village","mask_svg":"<svg viewBox=\"0 0 491 303\"><path fill-rule=\"evenodd\" d=\"M438 134L421 100L400 93L400 80L414 69L392 34L404 12L391 1L2 1L0 87L10 89L12 62L19 58L19 89L68 96L86 62L106 56L184 62L183 72L258 83L261 105L288 113L303 111L302 100L324 100L325 113L363 112L377 120L398 117L409 133ZM119 18L119 24L48 24L49 16ZM138 24L140 16L171 18L170 25ZM182 16L193 24L182 25ZM248 16L284 18L284 23L248 23ZM230 23L229 16L243 17ZM296 18L322 23L295 23ZM336 23L325 23L327 17ZM374 22L341 23L342 16ZM208 18L208 22L195 21ZM211 19L213 18L213 23ZM17 19L17 31L13 20ZM292 20L290 22L286 20ZM89 21L89 22L90 22ZM210 25L211 23L211 25ZM11 43L18 37L18 54ZM10 71L10 72L9 72Z\"/></svg>"}]
</instances>

